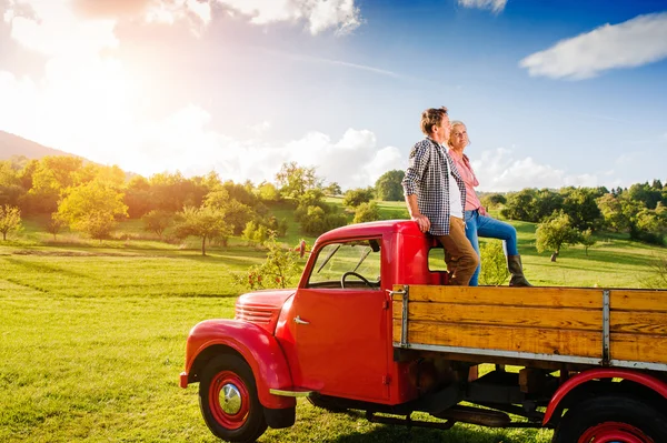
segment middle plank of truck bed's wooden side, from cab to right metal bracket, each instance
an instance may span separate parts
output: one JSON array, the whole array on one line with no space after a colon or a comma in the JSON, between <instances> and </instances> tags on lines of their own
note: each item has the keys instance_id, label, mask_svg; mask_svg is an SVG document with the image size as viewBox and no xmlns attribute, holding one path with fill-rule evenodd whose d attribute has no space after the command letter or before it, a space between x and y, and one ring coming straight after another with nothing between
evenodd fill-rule
<instances>
[{"instance_id":1,"label":"middle plank of truck bed's wooden side, from cab to right metal bracket","mask_svg":"<svg viewBox=\"0 0 667 443\"><path fill-rule=\"evenodd\" d=\"M394 318L401 318L402 303L396 303ZM470 305L451 303L408 303L408 321L490 324L522 328L603 330L603 311L568 308Z\"/></svg>"}]
</instances>

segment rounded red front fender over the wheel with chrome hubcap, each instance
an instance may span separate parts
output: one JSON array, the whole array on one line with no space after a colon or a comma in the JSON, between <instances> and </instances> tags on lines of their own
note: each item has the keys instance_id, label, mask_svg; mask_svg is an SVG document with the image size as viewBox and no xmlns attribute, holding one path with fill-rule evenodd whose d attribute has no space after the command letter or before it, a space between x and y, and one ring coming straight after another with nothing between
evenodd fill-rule
<instances>
[{"instance_id":1,"label":"rounded red front fender over the wheel with chrome hubcap","mask_svg":"<svg viewBox=\"0 0 667 443\"><path fill-rule=\"evenodd\" d=\"M273 395L270 389L292 386L289 366L276 338L256 324L238 320L206 320L190 331L186 350L186 372L181 387L199 379L208 359L231 349L252 370L257 393L265 407L285 409L296 405L293 397Z\"/></svg>"}]
</instances>

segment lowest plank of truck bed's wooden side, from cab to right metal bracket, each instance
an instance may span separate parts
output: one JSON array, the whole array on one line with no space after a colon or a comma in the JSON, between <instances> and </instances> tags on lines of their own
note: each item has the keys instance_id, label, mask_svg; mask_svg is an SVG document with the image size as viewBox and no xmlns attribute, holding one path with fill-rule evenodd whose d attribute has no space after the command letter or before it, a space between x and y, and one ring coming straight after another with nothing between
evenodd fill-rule
<instances>
[{"instance_id":1,"label":"lowest plank of truck bed's wooden side, from cab to right metal bracket","mask_svg":"<svg viewBox=\"0 0 667 443\"><path fill-rule=\"evenodd\" d=\"M394 321L394 341L400 341L400 320ZM593 331L527 329L411 322L408 342L441 346L574 355L601 359L601 334Z\"/></svg>"}]
</instances>

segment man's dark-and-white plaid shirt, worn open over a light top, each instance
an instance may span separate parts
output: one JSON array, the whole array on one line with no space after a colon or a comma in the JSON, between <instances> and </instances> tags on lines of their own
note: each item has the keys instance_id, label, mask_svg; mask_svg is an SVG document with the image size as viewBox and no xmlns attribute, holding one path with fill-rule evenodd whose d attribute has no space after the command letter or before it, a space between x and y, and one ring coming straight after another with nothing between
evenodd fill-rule
<instances>
[{"instance_id":1,"label":"man's dark-and-white plaid shirt, worn open over a light top","mask_svg":"<svg viewBox=\"0 0 667 443\"><path fill-rule=\"evenodd\" d=\"M428 232L431 235L449 234L449 168L465 204L466 184L447 150L429 138L412 147L402 187L406 195L417 195L419 212L430 221Z\"/></svg>"}]
</instances>

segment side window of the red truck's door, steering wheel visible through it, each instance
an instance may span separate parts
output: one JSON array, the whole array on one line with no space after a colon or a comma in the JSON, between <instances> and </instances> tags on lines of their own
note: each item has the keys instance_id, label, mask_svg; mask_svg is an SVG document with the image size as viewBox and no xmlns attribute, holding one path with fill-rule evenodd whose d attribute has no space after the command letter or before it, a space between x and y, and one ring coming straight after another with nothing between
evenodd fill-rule
<instances>
[{"instance_id":1,"label":"side window of the red truck's door, steering wheel visible through it","mask_svg":"<svg viewBox=\"0 0 667 443\"><path fill-rule=\"evenodd\" d=\"M379 290L380 244L379 239L327 244L319 250L308 288Z\"/></svg>"}]
</instances>

